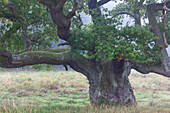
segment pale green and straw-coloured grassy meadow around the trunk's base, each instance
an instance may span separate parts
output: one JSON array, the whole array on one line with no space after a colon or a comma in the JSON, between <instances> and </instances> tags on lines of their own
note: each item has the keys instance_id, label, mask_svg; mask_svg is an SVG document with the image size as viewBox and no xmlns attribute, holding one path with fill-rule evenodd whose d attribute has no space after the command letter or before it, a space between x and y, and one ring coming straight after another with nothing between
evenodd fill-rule
<instances>
[{"instance_id":1,"label":"pale green and straw-coloured grassy meadow around the trunk's base","mask_svg":"<svg viewBox=\"0 0 170 113\"><path fill-rule=\"evenodd\" d=\"M88 81L74 71L1 71L0 112L170 113L170 78L132 71L137 107L90 105Z\"/></svg>"}]
</instances>

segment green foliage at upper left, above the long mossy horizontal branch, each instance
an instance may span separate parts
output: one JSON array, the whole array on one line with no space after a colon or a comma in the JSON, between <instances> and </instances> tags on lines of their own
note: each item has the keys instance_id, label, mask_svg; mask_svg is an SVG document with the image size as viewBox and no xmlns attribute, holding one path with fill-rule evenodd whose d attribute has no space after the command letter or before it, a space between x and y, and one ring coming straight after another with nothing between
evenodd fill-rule
<instances>
[{"instance_id":1,"label":"green foliage at upper left, above the long mossy horizontal branch","mask_svg":"<svg viewBox=\"0 0 170 113\"><path fill-rule=\"evenodd\" d=\"M57 41L57 26L52 22L50 13L46 7L39 4L37 0L10 0L17 10L17 19L7 19L5 13L12 14L9 8L1 8L0 37L1 45L10 51L23 51L33 45L33 49L51 47L50 41ZM0 7L7 5L5 1L0 2ZM19 29L17 30L17 28ZM12 29L13 28L13 29ZM10 30L12 29L12 30Z\"/></svg>"}]
</instances>

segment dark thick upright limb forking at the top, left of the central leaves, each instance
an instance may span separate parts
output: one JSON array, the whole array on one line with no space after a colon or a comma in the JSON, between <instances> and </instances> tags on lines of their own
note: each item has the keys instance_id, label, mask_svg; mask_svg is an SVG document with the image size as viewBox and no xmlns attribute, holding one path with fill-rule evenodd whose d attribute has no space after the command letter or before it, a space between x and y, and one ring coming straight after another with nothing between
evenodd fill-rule
<instances>
[{"instance_id":1,"label":"dark thick upright limb forking at the top, left of the central leaves","mask_svg":"<svg viewBox=\"0 0 170 113\"><path fill-rule=\"evenodd\" d=\"M70 18L73 16L73 12L70 14L70 18L64 15L63 7L67 0L39 0L41 4L46 5L50 9L51 18L57 25L57 32L59 38L68 41L70 35Z\"/></svg>"}]
</instances>

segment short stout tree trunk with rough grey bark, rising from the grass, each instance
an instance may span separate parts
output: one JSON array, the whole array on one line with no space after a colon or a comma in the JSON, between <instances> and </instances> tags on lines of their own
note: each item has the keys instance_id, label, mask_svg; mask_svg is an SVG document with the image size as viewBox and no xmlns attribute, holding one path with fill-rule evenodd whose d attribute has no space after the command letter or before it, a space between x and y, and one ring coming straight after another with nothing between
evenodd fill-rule
<instances>
[{"instance_id":1,"label":"short stout tree trunk with rough grey bark, rising from the grass","mask_svg":"<svg viewBox=\"0 0 170 113\"><path fill-rule=\"evenodd\" d=\"M136 99L128 76L131 66L125 61L108 61L92 68L89 94L92 104L136 105Z\"/></svg>"}]
</instances>

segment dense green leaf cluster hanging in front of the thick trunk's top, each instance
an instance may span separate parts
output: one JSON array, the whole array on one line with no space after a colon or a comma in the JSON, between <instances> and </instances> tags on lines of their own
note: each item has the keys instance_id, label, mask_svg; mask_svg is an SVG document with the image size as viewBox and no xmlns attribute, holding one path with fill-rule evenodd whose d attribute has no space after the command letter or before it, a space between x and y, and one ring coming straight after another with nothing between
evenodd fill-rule
<instances>
[{"instance_id":1,"label":"dense green leaf cluster hanging in front of the thick trunk's top","mask_svg":"<svg viewBox=\"0 0 170 113\"><path fill-rule=\"evenodd\" d=\"M103 17L102 17L103 18ZM101 24L102 23L102 24ZM138 63L158 63L161 55L155 45L158 39L148 26L125 26L107 18L100 24L90 24L80 29L72 29L71 46L86 57L106 61L122 58Z\"/></svg>"}]
</instances>

